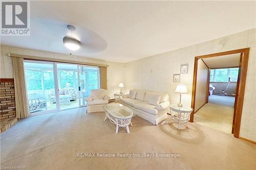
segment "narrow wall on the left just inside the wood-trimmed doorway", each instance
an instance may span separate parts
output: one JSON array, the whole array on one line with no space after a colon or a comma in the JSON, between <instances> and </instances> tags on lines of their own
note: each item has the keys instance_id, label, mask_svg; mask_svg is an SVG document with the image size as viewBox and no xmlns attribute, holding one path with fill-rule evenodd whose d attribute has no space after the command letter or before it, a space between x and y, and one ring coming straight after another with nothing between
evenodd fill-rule
<instances>
[{"instance_id":1,"label":"narrow wall on the left just inside the wood-trimmed doorway","mask_svg":"<svg viewBox=\"0 0 256 170\"><path fill-rule=\"evenodd\" d=\"M195 111L206 102L208 70L209 68L204 64L202 59L198 60Z\"/></svg>"}]
</instances>

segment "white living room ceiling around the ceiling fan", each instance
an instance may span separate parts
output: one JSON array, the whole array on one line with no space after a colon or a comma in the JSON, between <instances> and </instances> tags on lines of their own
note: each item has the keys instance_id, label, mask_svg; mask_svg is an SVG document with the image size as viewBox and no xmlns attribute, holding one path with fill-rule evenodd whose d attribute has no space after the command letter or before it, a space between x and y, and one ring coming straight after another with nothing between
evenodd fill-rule
<instances>
[{"instance_id":1,"label":"white living room ceiling around the ceiling fan","mask_svg":"<svg viewBox=\"0 0 256 170\"><path fill-rule=\"evenodd\" d=\"M82 57L128 62L255 28L255 1L31 1L31 35L1 44L69 54L74 25Z\"/></svg>"}]
</instances>

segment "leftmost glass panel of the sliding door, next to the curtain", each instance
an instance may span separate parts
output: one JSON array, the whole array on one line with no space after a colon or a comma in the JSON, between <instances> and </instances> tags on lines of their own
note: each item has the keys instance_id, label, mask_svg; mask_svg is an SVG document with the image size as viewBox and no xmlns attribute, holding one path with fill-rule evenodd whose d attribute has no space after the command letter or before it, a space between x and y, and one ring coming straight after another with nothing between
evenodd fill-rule
<instances>
[{"instance_id":1,"label":"leftmost glass panel of the sliding door, next to the curtain","mask_svg":"<svg viewBox=\"0 0 256 170\"><path fill-rule=\"evenodd\" d=\"M54 64L24 62L30 113L57 110Z\"/></svg>"}]
</instances>

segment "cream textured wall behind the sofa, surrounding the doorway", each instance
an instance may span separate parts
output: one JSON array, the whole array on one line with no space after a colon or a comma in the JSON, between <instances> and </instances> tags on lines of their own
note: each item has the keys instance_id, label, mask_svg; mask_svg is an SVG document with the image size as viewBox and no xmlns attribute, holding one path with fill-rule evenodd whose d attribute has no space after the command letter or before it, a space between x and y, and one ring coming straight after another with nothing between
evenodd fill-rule
<instances>
[{"instance_id":1,"label":"cream textured wall behind the sofa, surrounding the doorway","mask_svg":"<svg viewBox=\"0 0 256 170\"><path fill-rule=\"evenodd\" d=\"M215 51L214 47L219 43L223 48ZM182 95L182 103L190 106L195 57L246 47L250 47L250 56L240 136L256 141L256 29L126 63L126 92L132 88L163 91L169 93L172 104L178 103L179 95L174 90L179 83L173 82L173 74L180 72L180 64L188 63L188 74L181 74L181 83L189 90L188 94Z\"/></svg>"}]
</instances>

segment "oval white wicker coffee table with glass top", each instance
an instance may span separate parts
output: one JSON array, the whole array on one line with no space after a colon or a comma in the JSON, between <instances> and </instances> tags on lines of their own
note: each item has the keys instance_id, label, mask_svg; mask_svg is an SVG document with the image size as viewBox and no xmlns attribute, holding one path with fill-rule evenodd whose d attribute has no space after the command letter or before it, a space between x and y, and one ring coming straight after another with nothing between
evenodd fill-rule
<instances>
[{"instance_id":1,"label":"oval white wicker coffee table with glass top","mask_svg":"<svg viewBox=\"0 0 256 170\"><path fill-rule=\"evenodd\" d=\"M119 127L126 127L127 133L130 133L129 125L133 126L131 123L132 118L135 116L134 112L128 107L119 104L108 104L104 107L106 116L108 117L110 122L116 125L116 133L118 133Z\"/></svg>"}]
</instances>

